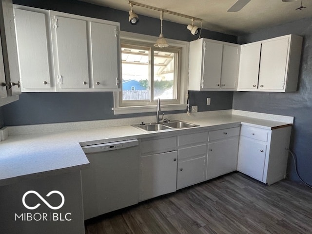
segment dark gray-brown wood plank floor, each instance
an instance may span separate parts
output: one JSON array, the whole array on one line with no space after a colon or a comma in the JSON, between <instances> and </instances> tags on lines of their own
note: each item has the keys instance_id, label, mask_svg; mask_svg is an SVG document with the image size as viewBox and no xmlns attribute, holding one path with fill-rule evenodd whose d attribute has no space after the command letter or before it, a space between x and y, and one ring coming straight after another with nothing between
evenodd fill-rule
<instances>
[{"instance_id":1,"label":"dark gray-brown wood plank floor","mask_svg":"<svg viewBox=\"0 0 312 234\"><path fill-rule=\"evenodd\" d=\"M232 173L85 222L86 234L312 234L312 189Z\"/></svg>"}]
</instances>

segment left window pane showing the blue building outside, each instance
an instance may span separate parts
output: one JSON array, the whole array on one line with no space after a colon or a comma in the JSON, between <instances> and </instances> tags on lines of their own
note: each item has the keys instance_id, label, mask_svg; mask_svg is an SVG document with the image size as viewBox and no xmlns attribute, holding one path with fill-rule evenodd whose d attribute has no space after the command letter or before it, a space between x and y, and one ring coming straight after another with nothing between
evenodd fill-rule
<instances>
[{"instance_id":1,"label":"left window pane showing the blue building outside","mask_svg":"<svg viewBox=\"0 0 312 234\"><path fill-rule=\"evenodd\" d=\"M149 100L149 49L121 48L122 100Z\"/></svg>"}]
</instances>

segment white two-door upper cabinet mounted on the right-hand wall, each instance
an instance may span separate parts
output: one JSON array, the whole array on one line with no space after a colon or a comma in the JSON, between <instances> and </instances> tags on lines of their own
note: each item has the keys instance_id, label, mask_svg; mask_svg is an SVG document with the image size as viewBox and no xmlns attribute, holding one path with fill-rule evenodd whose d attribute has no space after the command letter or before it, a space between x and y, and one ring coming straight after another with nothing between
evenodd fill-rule
<instances>
[{"instance_id":1,"label":"white two-door upper cabinet mounted on the right-hand wall","mask_svg":"<svg viewBox=\"0 0 312 234\"><path fill-rule=\"evenodd\" d=\"M238 91L297 90L302 37L287 35L241 46Z\"/></svg>"}]
</instances>

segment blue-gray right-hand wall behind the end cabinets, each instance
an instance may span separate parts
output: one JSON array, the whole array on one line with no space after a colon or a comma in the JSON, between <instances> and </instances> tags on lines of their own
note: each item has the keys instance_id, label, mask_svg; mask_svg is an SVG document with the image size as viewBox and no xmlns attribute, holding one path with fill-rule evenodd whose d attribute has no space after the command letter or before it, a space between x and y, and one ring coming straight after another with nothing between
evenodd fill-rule
<instances>
[{"instance_id":1,"label":"blue-gray right-hand wall behind the end cabinets","mask_svg":"<svg viewBox=\"0 0 312 234\"><path fill-rule=\"evenodd\" d=\"M297 92L234 92L233 109L294 116L291 148L297 155L299 175L312 184L312 18L238 37L238 43L287 34L304 38ZM292 158L289 160L288 171L292 180L298 180Z\"/></svg>"}]
</instances>

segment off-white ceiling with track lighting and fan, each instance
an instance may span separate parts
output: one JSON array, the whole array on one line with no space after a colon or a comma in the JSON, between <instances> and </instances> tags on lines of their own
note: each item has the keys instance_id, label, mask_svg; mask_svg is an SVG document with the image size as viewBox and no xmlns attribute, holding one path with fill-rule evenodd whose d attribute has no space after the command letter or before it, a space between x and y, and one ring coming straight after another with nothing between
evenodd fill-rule
<instances>
[{"instance_id":1,"label":"off-white ceiling with track lighting and fan","mask_svg":"<svg viewBox=\"0 0 312 234\"><path fill-rule=\"evenodd\" d=\"M128 0L82 0L85 2L106 6L122 11L129 11ZM242 35L253 33L258 29L272 27L287 22L312 17L312 0L302 0L304 8L300 7L301 0L283 2L281 0L251 0L238 12L227 12L236 0L134 0L145 5L162 8L180 14L203 20L203 28L227 33ZM156 10L134 6L137 15L159 18ZM191 20L164 13L164 20L181 24L190 24ZM200 26L199 22L195 22Z\"/></svg>"}]
</instances>

